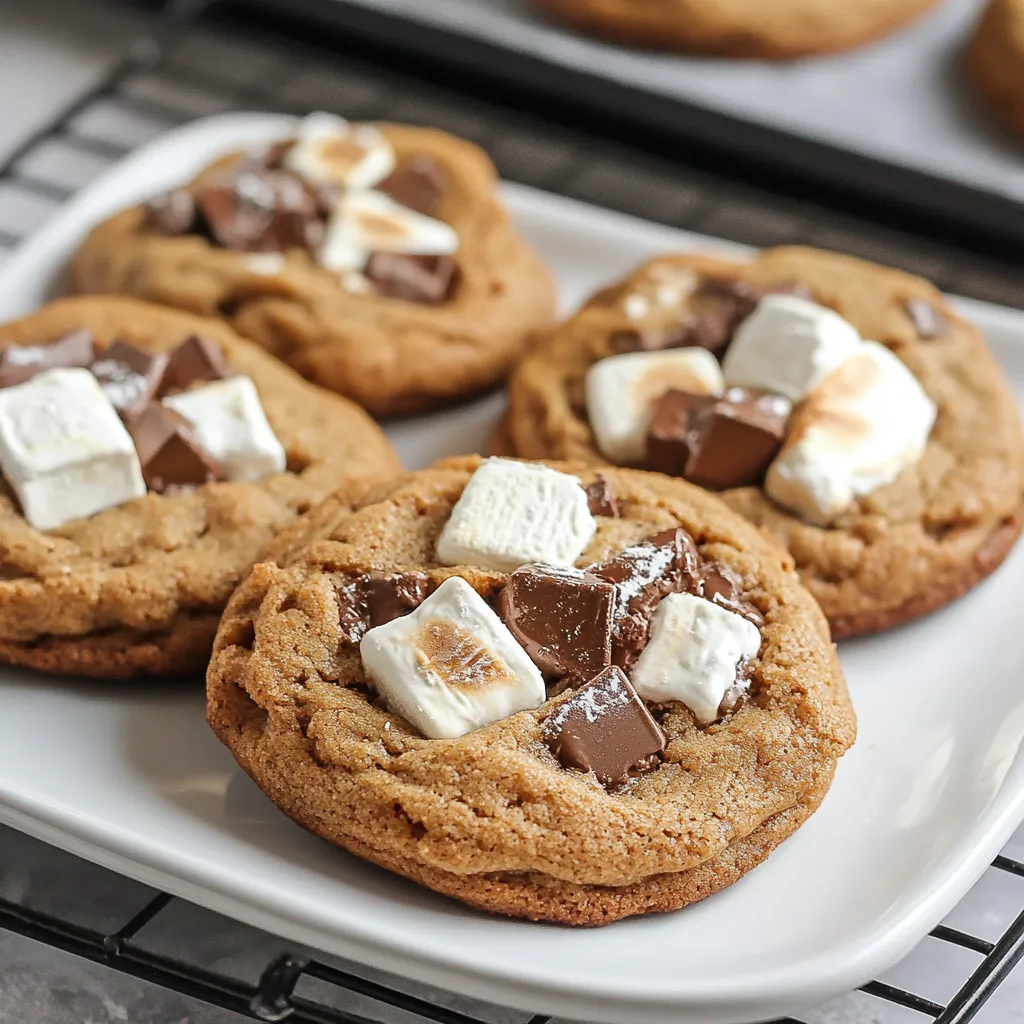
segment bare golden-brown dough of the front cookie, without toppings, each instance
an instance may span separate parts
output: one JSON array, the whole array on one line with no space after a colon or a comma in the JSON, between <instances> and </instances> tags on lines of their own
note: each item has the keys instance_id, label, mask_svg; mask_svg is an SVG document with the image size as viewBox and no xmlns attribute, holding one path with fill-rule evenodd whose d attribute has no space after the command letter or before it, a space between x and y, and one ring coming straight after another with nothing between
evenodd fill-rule
<instances>
[{"instance_id":1,"label":"bare golden-brown dough of the front cookie, without toppings","mask_svg":"<svg viewBox=\"0 0 1024 1024\"><path fill-rule=\"evenodd\" d=\"M449 460L354 504L329 499L283 532L218 633L207 676L217 735L306 828L482 909L599 925L734 882L813 812L855 733L827 625L792 560L681 480L559 465L584 484L603 475L617 513L595 516L578 565L682 525L699 559L737 573L762 623L751 688L703 726L683 703L649 705L665 750L609 787L597 769L563 767L550 743L580 680L549 676L536 710L427 739L368 684L349 598L368 573L421 573L427 590L456 575L505 614L504 572L435 555L479 466Z\"/></svg>"}]
</instances>

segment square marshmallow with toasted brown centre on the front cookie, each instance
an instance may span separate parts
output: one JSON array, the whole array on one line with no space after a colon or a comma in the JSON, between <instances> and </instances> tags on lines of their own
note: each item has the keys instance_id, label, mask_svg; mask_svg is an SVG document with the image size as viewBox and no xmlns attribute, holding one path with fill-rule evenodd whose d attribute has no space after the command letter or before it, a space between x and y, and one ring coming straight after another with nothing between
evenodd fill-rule
<instances>
[{"instance_id":1,"label":"square marshmallow with toasted brown centre on the front cookie","mask_svg":"<svg viewBox=\"0 0 1024 1024\"><path fill-rule=\"evenodd\" d=\"M430 739L451 739L540 708L544 679L465 580L450 577L415 611L359 642L388 707Z\"/></svg>"}]
</instances>

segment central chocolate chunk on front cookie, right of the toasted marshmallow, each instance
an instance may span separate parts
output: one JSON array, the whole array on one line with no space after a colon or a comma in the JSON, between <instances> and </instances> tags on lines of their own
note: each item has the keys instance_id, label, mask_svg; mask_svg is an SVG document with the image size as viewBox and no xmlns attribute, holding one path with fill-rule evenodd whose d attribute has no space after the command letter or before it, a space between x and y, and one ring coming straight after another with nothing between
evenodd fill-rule
<instances>
[{"instance_id":1,"label":"central chocolate chunk on front cookie, right of the toasted marshmallow","mask_svg":"<svg viewBox=\"0 0 1024 1024\"><path fill-rule=\"evenodd\" d=\"M549 676L589 679L611 664L611 612L615 588L589 572L523 565L512 572L498 612Z\"/></svg>"}]
</instances>

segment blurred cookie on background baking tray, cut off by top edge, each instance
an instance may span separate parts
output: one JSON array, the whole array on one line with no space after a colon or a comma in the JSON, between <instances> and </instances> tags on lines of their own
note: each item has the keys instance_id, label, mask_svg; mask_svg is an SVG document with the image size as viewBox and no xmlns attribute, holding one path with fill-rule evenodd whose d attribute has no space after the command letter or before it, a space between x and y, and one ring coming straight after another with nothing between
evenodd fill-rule
<instances>
[{"instance_id":1,"label":"blurred cookie on background baking tray, cut off by top edge","mask_svg":"<svg viewBox=\"0 0 1024 1024\"><path fill-rule=\"evenodd\" d=\"M626 45L730 57L787 59L862 46L937 0L537 0L569 25Z\"/></svg>"}]
</instances>

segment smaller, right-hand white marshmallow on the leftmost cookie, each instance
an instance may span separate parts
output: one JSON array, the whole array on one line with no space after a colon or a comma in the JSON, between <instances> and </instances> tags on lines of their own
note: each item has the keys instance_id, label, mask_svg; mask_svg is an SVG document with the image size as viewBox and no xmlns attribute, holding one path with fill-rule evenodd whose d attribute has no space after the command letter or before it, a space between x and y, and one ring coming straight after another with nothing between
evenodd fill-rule
<instances>
[{"instance_id":1,"label":"smaller, right-hand white marshmallow on the leftmost cookie","mask_svg":"<svg viewBox=\"0 0 1024 1024\"><path fill-rule=\"evenodd\" d=\"M227 377L168 395L164 404L191 425L193 437L225 480L261 480L287 459L249 377Z\"/></svg>"}]
</instances>

